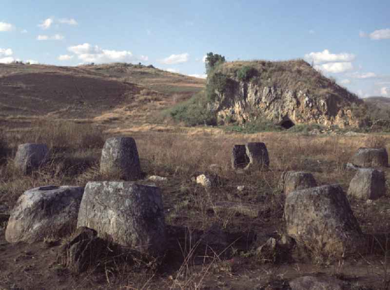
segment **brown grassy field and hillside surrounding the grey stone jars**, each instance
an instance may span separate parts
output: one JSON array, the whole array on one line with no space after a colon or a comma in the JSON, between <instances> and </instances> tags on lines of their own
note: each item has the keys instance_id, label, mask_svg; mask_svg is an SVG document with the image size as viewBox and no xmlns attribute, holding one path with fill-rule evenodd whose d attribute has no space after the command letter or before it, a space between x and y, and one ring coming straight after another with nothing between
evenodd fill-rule
<instances>
[{"instance_id":1,"label":"brown grassy field and hillside surrounding the grey stone jars","mask_svg":"<svg viewBox=\"0 0 390 290\"><path fill-rule=\"evenodd\" d=\"M269 237L285 233L284 195L278 190L286 170L313 173L319 185L339 183L348 190L354 172L344 164L361 146L386 147L390 136L289 132L226 133L219 127L181 127L156 121L158 112L200 91L204 80L153 68L116 65L51 67L0 65L0 289L264 289L270 281L304 274L333 276L345 289L390 289L390 192L366 203L350 199L369 249L329 258L321 253L276 259L255 254ZM162 189L168 249L156 260L117 257L72 274L57 261L64 239L9 244L4 238L9 212L27 189L48 184L80 185L118 180L99 173L101 148L108 137L132 136L141 169ZM267 171L231 169L233 145L264 142ZM46 143L51 159L30 175L15 170L19 144ZM191 181L217 164L219 184L205 189ZM387 179L390 168L384 169ZM244 185L243 191L237 186ZM220 201L250 204L256 217L239 211L213 210ZM198 242L210 228L227 236L227 245ZM385 235L384 235L385 234ZM271 288L269 288L271 289ZM273 288L276 289L276 288ZM279 288L282 289L282 288Z\"/></svg>"}]
</instances>

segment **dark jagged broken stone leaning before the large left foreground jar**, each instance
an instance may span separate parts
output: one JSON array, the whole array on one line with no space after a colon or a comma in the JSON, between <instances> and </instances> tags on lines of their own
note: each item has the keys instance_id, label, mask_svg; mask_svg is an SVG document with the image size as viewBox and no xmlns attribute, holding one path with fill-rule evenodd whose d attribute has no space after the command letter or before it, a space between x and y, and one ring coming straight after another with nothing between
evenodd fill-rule
<instances>
[{"instance_id":1,"label":"dark jagged broken stone leaning before the large left foreground jar","mask_svg":"<svg viewBox=\"0 0 390 290\"><path fill-rule=\"evenodd\" d=\"M81 273L97 264L105 248L106 242L98 237L95 230L80 227L61 247L58 262L71 272Z\"/></svg>"}]
</instances>

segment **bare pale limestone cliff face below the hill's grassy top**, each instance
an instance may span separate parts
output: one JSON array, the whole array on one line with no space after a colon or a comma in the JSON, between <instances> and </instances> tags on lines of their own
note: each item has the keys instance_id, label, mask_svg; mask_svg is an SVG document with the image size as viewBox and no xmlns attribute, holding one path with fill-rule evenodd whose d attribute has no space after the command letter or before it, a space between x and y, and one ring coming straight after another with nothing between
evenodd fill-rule
<instances>
[{"instance_id":1,"label":"bare pale limestone cliff face below the hill's grassy top","mask_svg":"<svg viewBox=\"0 0 390 290\"><path fill-rule=\"evenodd\" d=\"M351 111L351 104L359 100L352 94L340 96L333 92L319 96L233 78L223 93L215 93L217 98L210 109L216 112L220 122L244 123L266 118L281 125L291 121L294 124L359 126L358 118Z\"/></svg>"}]
</instances>

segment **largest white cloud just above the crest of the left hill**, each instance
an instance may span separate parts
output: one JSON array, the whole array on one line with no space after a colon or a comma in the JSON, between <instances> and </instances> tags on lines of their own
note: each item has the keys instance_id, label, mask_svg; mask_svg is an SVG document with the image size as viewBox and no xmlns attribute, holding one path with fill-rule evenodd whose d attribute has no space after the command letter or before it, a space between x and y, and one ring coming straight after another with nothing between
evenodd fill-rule
<instances>
[{"instance_id":1,"label":"largest white cloud just above the crest of the left hill","mask_svg":"<svg viewBox=\"0 0 390 290\"><path fill-rule=\"evenodd\" d=\"M82 60L83 63L122 62L148 59L145 55L141 55L137 58L133 57L133 54L130 51L106 50L101 49L98 46L91 46L89 43L70 46L68 47L68 51L76 54L78 59Z\"/></svg>"}]
</instances>

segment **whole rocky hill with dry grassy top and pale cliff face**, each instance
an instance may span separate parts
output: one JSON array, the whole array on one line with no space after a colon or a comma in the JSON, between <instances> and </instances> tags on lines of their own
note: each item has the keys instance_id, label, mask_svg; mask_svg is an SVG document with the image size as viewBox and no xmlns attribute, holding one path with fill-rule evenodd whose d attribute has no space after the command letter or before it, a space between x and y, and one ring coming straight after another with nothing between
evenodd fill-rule
<instances>
[{"instance_id":1,"label":"whole rocky hill with dry grassy top and pale cliff face","mask_svg":"<svg viewBox=\"0 0 390 290\"><path fill-rule=\"evenodd\" d=\"M361 123L363 101L304 60L220 63L209 73L207 97L218 123L257 119L282 127Z\"/></svg>"}]
</instances>

